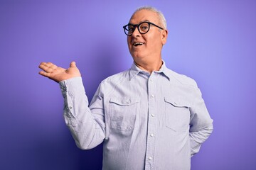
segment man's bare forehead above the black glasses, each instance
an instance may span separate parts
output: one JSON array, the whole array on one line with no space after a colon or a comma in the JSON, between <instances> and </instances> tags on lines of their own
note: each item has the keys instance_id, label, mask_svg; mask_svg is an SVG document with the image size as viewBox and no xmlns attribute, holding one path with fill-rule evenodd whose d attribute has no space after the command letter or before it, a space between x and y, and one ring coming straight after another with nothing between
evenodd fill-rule
<instances>
[{"instance_id":1,"label":"man's bare forehead above the black glasses","mask_svg":"<svg viewBox=\"0 0 256 170\"><path fill-rule=\"evenodd\" d=\"M156 12L142 9L134 13L129 20L129 23L137 24L143 21L150 21L152 23L158 23L159 17Z\"/></svg>"}]
</instances>

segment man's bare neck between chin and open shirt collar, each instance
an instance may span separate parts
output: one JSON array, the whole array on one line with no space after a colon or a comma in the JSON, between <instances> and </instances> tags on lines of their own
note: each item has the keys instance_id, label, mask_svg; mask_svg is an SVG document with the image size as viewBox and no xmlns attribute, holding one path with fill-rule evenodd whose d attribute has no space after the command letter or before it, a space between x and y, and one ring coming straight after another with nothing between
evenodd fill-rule
<instances>
[{"instance_id":1,"label":"man's bare neck between chin and open shirt collar","mask_svg":"<svg viewBox=\"0 0 256 170\"><path fill-rule=\"evenodd\" d=\"M137 62L134 60L134 63L137 65L137 67L139 67L139 69L150 72L150 74L153 71L159 71L161 65L163 64L161 59L154 62Z\"/></svg>"}]
</instances>

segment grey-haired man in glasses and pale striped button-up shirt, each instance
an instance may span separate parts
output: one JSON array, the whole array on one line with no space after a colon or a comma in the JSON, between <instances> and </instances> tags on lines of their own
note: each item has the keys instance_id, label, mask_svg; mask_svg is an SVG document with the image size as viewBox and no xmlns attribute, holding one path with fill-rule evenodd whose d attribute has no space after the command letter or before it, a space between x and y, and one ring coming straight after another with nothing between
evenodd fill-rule
<instances>
[{"instance_id":1,"label":"grey-haired man in glasses and pale striped button-up shirt","mask_svg":"<svg viewBox=\"0 0 256 170\"><path fill-rule=\"evenodd\" d=\"M76 145L104 142L102 169L190 169L213 130L201 92L161 59L168 34L161 12L137 9L124 33L134 63L102 81L89 107L75 62L68 69L43 62L40 74L60 83Z\"/></svg>"}]
</instances>

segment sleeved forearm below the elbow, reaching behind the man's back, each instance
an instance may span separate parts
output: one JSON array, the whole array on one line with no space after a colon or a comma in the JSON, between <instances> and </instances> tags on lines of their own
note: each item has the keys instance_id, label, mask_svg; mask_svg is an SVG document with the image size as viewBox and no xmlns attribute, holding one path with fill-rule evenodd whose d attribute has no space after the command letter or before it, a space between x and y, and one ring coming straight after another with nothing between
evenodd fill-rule
<instances>
[{"instance_id":1,"label":"sleeved forearm below the elbow, reaching behind the man's back","mask_svg":"<svg viewBox=\"0 0 256 170\"><path fill-rule=\"evenodd\" d=\"M199 152L199 149L203 142L207 140L210 134L213 132L213 124L208 125L206 128L198 130L196 132L189 132L190 145L191 145L191 157Z\"/></svg>"}]
</instances>

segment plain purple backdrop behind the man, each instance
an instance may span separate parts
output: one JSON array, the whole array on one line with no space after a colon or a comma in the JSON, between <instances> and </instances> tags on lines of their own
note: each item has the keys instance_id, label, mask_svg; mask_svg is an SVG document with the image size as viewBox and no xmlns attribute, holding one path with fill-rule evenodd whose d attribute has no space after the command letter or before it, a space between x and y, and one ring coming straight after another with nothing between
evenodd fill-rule
<instances>
[{"instance_id":1,"label":"plain purple backdrop behind the man","mask_svg":"<svg viewBox=\"0 0 256 170\"><path fill-rule=\"evenodd\" d=\"M131 66L122 26L143 5L166 16L166 65L198 82L214 120L191 169L255 169L254 0L1 0L1 169L101 168L102 145L75 146L59 86L38 64L75 60L91 99L102 79Z\"/></svg>"}]
</instances>

